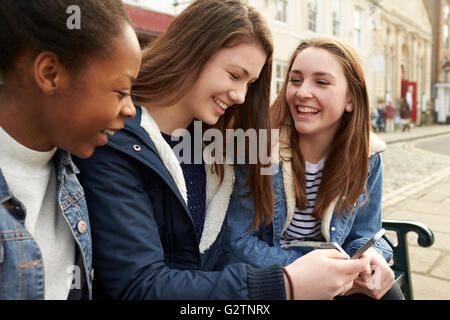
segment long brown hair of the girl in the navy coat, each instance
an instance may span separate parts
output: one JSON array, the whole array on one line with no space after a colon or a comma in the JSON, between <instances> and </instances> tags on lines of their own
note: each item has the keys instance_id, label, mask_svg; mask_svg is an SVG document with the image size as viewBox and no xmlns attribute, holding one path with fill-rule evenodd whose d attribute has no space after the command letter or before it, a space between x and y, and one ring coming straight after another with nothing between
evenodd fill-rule
<instances>
[{"instance_id":1,"label":"long brown hair of the girl in the navy coat","mask_svg":"<svg viewBox=\"0 0 450 320\"><path fill-rule=\"evenodd\" d=\"M175 18L165 34L144 49L132 95L137 101L150 105L173 105L191 88L217 50L243 42L262 46L267 55L265 65L259 79L249 87L245 102L227 110L211 127L219 129L223 137L226 129L267 129L270 132L272 36L262 15L243 0L194 1ZM247 145L247 155L248 149ZM270 146L267 154L270 154ZM260 162L248 165L246 184L255 207L253 226L269 223L273 216L271 177L260 174L262 166ZM215 164L214 168L222 180L223 164Z\"/></svg>"}]
</instances>

